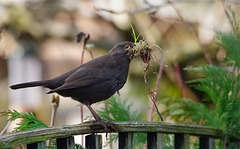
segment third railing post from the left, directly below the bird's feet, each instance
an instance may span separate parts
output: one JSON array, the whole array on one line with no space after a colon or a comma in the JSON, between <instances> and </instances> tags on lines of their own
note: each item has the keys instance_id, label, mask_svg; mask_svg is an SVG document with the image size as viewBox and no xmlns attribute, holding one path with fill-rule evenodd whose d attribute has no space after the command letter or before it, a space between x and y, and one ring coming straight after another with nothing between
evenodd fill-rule
<instances>
[{"instance_id":1,"label":"third railing post from the left, directly below the bird's feet","mask_svg":"<svg viewBox=\"0 0 240 149\"><path fill-rule=\"evenodd\" d=\"M88 149L101 149L102 148L102 135L87 135L85 137L85 146Z\"/></svg>"}]
</instances>

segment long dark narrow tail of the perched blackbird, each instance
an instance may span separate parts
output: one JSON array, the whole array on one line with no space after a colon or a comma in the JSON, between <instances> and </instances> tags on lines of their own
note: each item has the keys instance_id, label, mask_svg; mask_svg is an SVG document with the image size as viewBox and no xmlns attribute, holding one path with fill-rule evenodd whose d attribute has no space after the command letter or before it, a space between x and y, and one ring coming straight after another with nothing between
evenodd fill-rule
<instances>
[{"instance_id":1,"label":"long dark narrow tail of the perched blackbird","mask_svg":"<svg viewBox=\"0 0 240 149\"><path fill-rule=\"evenodd\" d=\"M45 85L47 85L47 81L33 81L33 82L26 82L26 83L11 85L10 88L15 90L20 88L45 86Z\"/></svg>"}]
</instances>

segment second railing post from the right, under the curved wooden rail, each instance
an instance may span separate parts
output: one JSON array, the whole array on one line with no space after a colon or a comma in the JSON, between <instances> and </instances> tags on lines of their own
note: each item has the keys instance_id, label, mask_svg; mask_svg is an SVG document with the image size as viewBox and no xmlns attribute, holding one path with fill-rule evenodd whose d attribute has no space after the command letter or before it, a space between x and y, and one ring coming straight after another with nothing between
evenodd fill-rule
<instances>
[{"instance_id":1,"label":"second railing post from the right, under the curved wooden rail","mask_svg":"<svg viewBox=\"0 0 240 149\"><path fill-rule=\"evenodd\" d=\"M176 133L174 148L175 149L189 149L189 135L184 133Z\"/></svg>"}]
</instances>

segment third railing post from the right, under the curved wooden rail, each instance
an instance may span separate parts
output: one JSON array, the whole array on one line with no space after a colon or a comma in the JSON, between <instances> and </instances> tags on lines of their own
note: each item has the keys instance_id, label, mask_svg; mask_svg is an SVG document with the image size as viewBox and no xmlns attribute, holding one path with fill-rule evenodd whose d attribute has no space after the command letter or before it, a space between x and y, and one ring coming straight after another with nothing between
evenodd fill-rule
<instances>
[{"instance_id":1,"label":"third railing post from the right, under the curved wooden rail","mask_svg":"<svg viewBox=\"0 0 240 149\"><path fill-rule=\"evenodd\" d=\"M163 134L156 132L147 133L147 148L163 149Z\"/></svg>"}]
</instances>

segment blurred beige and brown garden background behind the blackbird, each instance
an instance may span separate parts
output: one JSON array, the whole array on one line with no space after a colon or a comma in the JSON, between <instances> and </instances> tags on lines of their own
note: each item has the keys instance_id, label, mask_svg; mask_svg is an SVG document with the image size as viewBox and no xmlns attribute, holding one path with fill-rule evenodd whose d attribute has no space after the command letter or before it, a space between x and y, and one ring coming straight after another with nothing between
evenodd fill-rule
<instances>
[{"instance_id":1,"label":"blurred beige and brown garden background behind the blackbird","mask_svg":"<svg viewBox=\"0 0 240 149\"><path fill-rule=\"evenodd\" d=\"M159 65L164 65L158 91L159 110L167 108L162 102L165 100L186 97L201 102L203 95L185 83L198 76L184 68L218 65L224 58L225 51L216 44L216 31L233 30L228 4L240 18L237 0L0 0L0 111L31 111L49 124L52 96L45 94L47 89L13 91L9 85L53 78L79 66L79 32L90 35L84 63L106 54L120 41L134 41L129 23L142 39L155 45L147 73L152 89ZM133 109L145 113L143 119L147 120L152 102L144 84L145 67L140 58L131 62L120 97L133 103ZM102 106L95 104L93 108ZM83 110L84 117L90 115L86 107ZM80 103L61 97L55 125L80 123L80 115ZM0 130L6 120L7 117L0 118ZM153 121L160 121L157 114Z\"/></svg>"}]
</instances>

